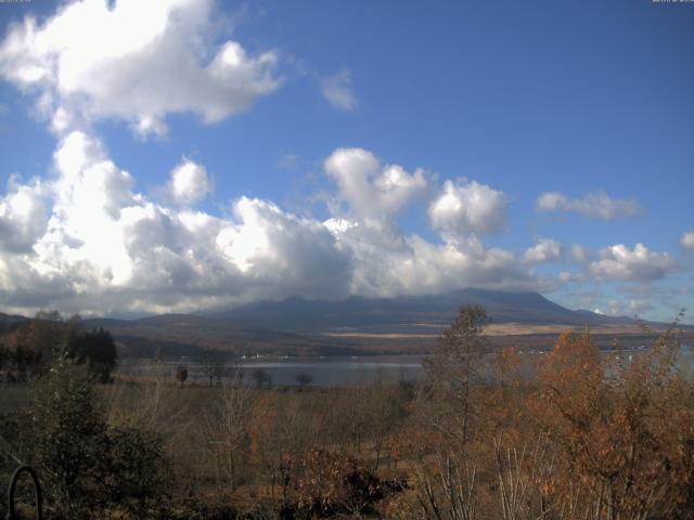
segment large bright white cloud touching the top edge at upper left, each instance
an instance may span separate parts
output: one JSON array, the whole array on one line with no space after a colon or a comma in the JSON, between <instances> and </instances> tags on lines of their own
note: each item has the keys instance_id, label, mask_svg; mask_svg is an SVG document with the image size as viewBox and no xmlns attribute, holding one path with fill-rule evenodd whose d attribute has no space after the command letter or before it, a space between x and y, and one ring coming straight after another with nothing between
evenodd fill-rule
<instances>
[{"instance_id":1,"label":"large bright white cloud touching the top edge at upper left","mask_svg":"<svg viewBox=\"0 0 694 520\"><path fill-rule=\"evenodd\" d=\"M40 94L59 133L115 118L165 134L170 113L205 122L247 109L279 87L273 51L215 46L210 0L79 0L39 23L28 16L0 44L0 76Z\"/></svg>"}]
</instances>

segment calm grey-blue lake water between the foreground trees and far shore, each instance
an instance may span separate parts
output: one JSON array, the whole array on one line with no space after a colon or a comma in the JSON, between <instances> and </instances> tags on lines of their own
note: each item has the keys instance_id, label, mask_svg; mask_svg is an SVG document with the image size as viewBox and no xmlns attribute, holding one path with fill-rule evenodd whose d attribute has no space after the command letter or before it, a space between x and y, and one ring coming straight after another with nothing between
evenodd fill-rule
<instances>
[{"instance_id":1,"label":"calm grey-blue lake water between the foreground trees and far shore","mask_svg":"<svg viewBox=\"0 0 694 520\"><path fill-rule=\"evenodd\" d=\"M634 356L643 355L647 350L624 351L627 361ZM603 352L607 354L609 352ZM531 367L545 353L527 352L522 359L527 367ZM235 364L226 365L228 373L233 373L236 367L243 372L244 381L255 384L254 373L262 369L273 385L298 385L297 377L308 375L311 385L321 387L332 386L363 386L381 379L386 382L396 382L400 379L416 380L423 376L422 360L424 355L375 355L375 356L323 356L323 358L254 358L240 360ZM195 359L182 358L167 360L157 363L154 360L121 360L117 373L124 375L154 375L165 374L172 377L177 365L188 368L188 380L194 382L207 382L204 366ZM694 352L685 348L680 354L679 366L687 374L694 374ZM530 368L524 370L529 375Z\"/></svg>"}]
</instances>

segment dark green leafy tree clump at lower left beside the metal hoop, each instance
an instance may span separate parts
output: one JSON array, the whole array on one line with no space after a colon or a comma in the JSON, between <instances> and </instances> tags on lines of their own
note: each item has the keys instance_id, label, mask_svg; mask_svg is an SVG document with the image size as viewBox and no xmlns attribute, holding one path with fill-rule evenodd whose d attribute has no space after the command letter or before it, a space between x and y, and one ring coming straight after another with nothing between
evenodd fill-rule
<instances>
[{"instance_id":1,"label":"dark green leafy tree clump at lower left beside the metal hoop","mask_svg":"<svg viewBox=\"0 0 694 520\"><path fill-rule=\"evenodd\" d=\"M35 389L29 425L31 463L41 470L54 518L113 518L106 509L151 518L147 510L160 504L167 464L159 437L108 426L86 366L65 354L54 360Z\"/></svg>"}]
</instances>

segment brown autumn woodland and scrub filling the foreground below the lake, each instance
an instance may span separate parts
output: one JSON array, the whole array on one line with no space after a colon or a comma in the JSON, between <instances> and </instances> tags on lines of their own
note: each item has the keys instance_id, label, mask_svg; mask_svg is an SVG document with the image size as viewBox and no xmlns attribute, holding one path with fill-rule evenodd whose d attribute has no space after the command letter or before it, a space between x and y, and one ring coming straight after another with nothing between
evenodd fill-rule
<instances>
[{"instance_id":1,"label":"brown autumn woodland and scrub filling the foreground below the lake","mask_svg":"<svg viewBox=\"0 0 694 520\"><path fill-rule=\"evenodd\" d=\"M420 384L282 388L214 355L209 386L106 384L107 333L37 320L4 336L0 481L35 467L53 519L694 518L677 322L633 359L566 332L532 379L513 348L481 355L486 324L462 308Z\"/></svg>"}]
</instances>

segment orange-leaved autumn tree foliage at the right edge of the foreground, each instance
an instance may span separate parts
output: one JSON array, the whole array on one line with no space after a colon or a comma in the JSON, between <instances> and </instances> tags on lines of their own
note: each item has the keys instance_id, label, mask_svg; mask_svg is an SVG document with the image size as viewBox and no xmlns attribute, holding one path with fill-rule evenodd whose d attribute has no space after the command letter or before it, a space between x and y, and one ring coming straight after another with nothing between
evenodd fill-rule
<instances>
[{"instance_id":1,"label":"orange-leaved autumn tree foliage at the right edge of the foreground","mask_svg":"<svg viewBox=\"0 0 694 520\"><path fill-rule=\"evenodd\" d=\"M588 330L558 338L540 366L538 400L557 451L557 508L580 493L581 517L694 518L694 392L678 348L669 330L624 363L601 360Z\"/></svg>"}]
</instances>

